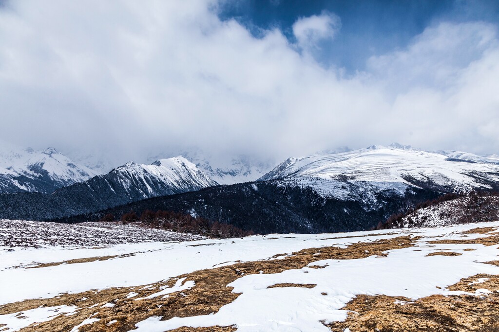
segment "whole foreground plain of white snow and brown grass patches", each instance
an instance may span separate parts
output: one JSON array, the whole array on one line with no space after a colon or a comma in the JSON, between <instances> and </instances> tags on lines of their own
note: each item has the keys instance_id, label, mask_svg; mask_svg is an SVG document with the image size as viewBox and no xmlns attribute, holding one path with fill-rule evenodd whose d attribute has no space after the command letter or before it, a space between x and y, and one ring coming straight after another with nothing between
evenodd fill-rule
<instances>
[{"instance_id":1,"label":"whole foreground plain of white snow and brown grass patches","mask_svg":"<svg viewBox=\"0 0 499 332\"><path fill-rule=\"evenodd\" d=\"M493 331L498 229L4 246L0 329Z\"/></svg>"}]
</instances>

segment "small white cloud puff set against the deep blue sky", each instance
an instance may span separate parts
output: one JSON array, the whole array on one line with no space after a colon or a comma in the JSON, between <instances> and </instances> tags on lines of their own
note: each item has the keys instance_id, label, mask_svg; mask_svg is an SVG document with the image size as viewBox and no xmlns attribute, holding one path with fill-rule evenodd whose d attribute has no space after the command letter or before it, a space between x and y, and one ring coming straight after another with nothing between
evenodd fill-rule
<instances>
[{"instance_id":1,"label":"small white cloud puff set against the deep blue sky","mask_svg":"<svg viewBox=\"0 0 499 332\"><path fill-rule=\"evenodd\" d=\"M333 39L341 27L341 19L327 10L320 15L300 17L293 24L293 34L303 50L317 48L323 40Z\"/></svg>"}]
</instances>

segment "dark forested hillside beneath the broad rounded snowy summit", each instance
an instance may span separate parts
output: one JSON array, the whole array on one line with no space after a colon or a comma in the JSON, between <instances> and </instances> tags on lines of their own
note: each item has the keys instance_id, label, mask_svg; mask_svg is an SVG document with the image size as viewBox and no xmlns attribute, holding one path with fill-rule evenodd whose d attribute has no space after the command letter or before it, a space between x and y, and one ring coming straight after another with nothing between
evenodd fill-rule
<instances>
[{"instance_id":1,"label":"dark forested hillside beneath the broad rounded snowy summit","mask_svg":"<svg viewBox=\"0 0 499 332\"><path fill-rule=\"evenodd\" d=\"M106 214L120 218L130 211L176 211L211 221L226 222L255 233L320 233L364 230L440 194L415 188L406 195L377 197L379 205L366 209L363 202L325 198L312 188L280 186L276 181L257 181L203 189L197 192L156 197L98 213L57 221L81 222L101 219Z\"/></svg>"}]
</instances>

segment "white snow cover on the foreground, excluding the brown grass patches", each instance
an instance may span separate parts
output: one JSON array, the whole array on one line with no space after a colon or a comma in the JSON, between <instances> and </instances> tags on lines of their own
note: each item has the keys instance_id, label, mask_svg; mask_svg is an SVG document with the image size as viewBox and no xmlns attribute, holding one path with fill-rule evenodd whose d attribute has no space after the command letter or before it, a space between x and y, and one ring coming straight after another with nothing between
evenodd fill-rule
<instances>
[{"instance_id":1,"label":"white snow cover on the foreground, excluding the brown grass patches","mask_svg":"<svg viewBox=\"0 0 499 332\"><path fill-rule=\"evenodd\" d=\"M276 254L288 254L305 248L322 246L345 248L359 241L370 242L401 235L422 236L415 246L389 250L386 252L388 253L386 257L324 259L302 269L242 276L228 285L234 287L233 292L241 293L241 295L232 303L223 306L216 314L173 318L165 321L161 321L159 317L150 317L139 322L136 325L138 330L134 330L163 332L181 326L235 325L238 331L243 332L329 331L321 322L344 320L347 312L341 308L356 295L384 294L411 299L432 294L452 295L455 292L450 292L446 287L457 283L462 278L478 273L499 274L498 266L482 263L498 260L499 245L428 243L430 240L438 239L487 237L489 234L462 234L462 232L477 227L491 226L499 227L499 221L442 228L338 234L254 235L243 239L147 242L109 245L100 248L46 246L38 249L15 248L14 251L8 251L9 248L0 248L0 279L7 281L0 283L0 305L24 299L49 298L63 292L78 293L90 289L149 285L200 269L231 265L239 260L271 259ZM426 256L432 252L443 251L453 251L461 255ZM133 256L128 254L133 254ZM25 268L33 261L50 263L109 255L120 255L120 257L78 264ZM323 268L312 268L313 265L323 266ZM316 286L313 288L267 288L281 283L315 284ZM182 285L182 281L179 280L174 287L161 289L153 295L159 298L168 296L168 293L172 291L189 287L195 287L194 283L187 282ZM482 289L474 295L484 296L489 291ZM134 298L131 297L131 299ZM15 320L23 321L14 321L17 325L11 322L13 318L9 316L8 324L13 327L29 322L29 324L42 322L55 317L54 313L47 308L42 309L44 311L37 311L36 314L23 313L22 315L26 318L15 318ZM2 321L2 316L0 316L0 324L7 324ZM8 330L8 332L11 331Z\"/></svg>"}]
</instances>

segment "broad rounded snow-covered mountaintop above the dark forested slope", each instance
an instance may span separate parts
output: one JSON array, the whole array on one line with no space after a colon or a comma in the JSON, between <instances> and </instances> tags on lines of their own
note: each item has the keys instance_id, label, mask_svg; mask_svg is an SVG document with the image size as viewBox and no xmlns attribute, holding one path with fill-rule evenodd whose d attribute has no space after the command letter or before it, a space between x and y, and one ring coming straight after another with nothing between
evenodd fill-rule
<instances>
[{"instance_id":1,"label":"broad rounded snow-covered mountaintop above the dark forested slope","mask_svg":"<svg viewBox=\"0 0 499 332\"><path fill-rule=\"evenodd\" d=\"M323 197L376 203L377 195L403 196L411 188L468 192L499 187L494 159L462 152L435 153L392 144L343 153L289 158L260 180L311 187Z\"/></svg>"}]
</instances>

